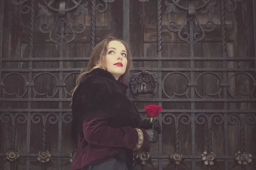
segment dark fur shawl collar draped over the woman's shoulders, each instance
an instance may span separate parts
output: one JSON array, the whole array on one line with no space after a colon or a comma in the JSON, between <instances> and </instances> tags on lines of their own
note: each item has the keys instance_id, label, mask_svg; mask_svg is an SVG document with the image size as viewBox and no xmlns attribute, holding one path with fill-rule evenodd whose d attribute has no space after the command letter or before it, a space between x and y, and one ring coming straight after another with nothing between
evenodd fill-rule
<instances>
[{"instance_id":1,"label":"dark fur shawl collar draped over the woman's shoulders","mask_svg":"<svg viewBox=\"0 0 256 170\"><path fill-rule=\"evenodd\" d=\"M107 116L110 126L136 127L141 118L125 94L127 88L108 71L94 69L81 79L73 95L73 118L83 120L88 116Z\"/></svg>"}]
</instances>

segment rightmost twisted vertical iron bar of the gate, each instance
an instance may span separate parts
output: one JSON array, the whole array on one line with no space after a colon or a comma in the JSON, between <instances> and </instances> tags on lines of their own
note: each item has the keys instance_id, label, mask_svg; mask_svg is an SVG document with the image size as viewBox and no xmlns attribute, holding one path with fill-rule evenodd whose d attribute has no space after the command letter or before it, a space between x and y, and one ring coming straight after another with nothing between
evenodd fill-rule
<instances>
[{"instance_id":1,"label":"rightmost twisted vertical iron bar of the gate","mask_svg":"<svg viewBox=\"0 0 256 170\"><path fill-rule=\"evenodd\" d=\"M225 0L221 0L221 54L222 57L227 57ZM227 68L227 60L222 61L222 67ZM227 71L223 71L223 82L227 83ZM223 98L227 99L227 86L223 86ZM227 110L227 102L224 102L223 108ZM226 156L228 156L228 121L227 113L224 113L224 170L228 170Z\"/></svg>"}]
</instances>

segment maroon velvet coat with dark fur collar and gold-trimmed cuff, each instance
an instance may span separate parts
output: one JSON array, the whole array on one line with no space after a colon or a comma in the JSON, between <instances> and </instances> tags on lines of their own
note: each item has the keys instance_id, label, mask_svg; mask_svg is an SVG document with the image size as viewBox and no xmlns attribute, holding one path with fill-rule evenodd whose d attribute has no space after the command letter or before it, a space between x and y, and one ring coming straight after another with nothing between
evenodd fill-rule
<instances>
[{"instance_id":1,"label":"maroon velvet coat with dark fur collar and gold-trimmed cuff","mask_svg":"<svg viewBox=\"0 0 256 170\"><path fill-rule=\"evenodd\" d=\"M100 68L81 79L73 95L72 137L77 153L71 170L101 163L122 152L132 164L133 149L138 143L135 127L141 127L142 120L125 94L127 88ZM147 135L142 131L145 148Z\"/></svg>"}]
</instances>

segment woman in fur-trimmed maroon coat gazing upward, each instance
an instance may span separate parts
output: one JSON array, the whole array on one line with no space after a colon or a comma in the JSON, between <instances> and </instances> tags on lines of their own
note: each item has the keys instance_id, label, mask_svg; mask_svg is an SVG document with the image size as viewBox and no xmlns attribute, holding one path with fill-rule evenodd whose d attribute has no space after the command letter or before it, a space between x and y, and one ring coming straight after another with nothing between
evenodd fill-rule
<instances>
[{"instance_id":1,"label":"woman in fur-trimmed maroon coat gazing upward","mask_svg":"<svg viewBox=\"0 0 256 170\"><path fill-rule=\"evenodd\" d=\"M159 121L150 129L126 96L122 77L131 68L131 51L122 40L106 37L93 49L72 98L72 139L76 159L71 170L132 170L133 151L157 142Z\"/></svg>"}]
</instances>

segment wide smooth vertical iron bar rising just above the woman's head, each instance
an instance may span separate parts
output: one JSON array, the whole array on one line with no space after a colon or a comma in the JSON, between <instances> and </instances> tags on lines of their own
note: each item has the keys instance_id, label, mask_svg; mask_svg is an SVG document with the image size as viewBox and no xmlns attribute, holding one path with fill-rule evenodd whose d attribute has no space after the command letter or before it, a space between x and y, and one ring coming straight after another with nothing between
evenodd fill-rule
<instances>
[{"instance_id":1,"label":"wide smooth vertical iron bar rising just above the woman's head","mask_svg":"<svg viewBox=\"0 0 256 170\"><path fill-rule=\"evenodd\" d=\"M130 0L123 0L123 40L130 45ZM125 84L130 82L130 73L125 75ZM127 91L130 96L130 90Z\"/></svg>"}]
</instances>

